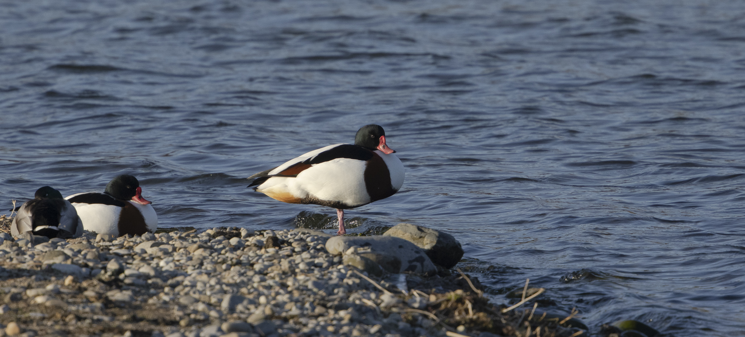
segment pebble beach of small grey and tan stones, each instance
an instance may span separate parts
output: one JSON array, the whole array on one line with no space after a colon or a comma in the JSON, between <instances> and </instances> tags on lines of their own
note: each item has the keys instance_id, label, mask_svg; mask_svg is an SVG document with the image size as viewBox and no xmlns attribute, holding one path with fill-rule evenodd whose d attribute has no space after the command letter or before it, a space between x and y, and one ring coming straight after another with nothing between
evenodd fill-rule
<instances>
[{"instance_id":1,"label":"pebble beach of small grey and tan stones","mask_svg":"<svg viewBox=\"0 0 745 337\"><path fill-rule=\"evenodd\" d=\"M215 227L119 238L86 232L42 243L0 237L0 334L7 336L584 332L534 315L532 303L501 312L506 305L489 303L478 280L458 271L368 274L345 264L345 254L330 253L332 236L317 230Z\"/></svg>"}]
</instances>

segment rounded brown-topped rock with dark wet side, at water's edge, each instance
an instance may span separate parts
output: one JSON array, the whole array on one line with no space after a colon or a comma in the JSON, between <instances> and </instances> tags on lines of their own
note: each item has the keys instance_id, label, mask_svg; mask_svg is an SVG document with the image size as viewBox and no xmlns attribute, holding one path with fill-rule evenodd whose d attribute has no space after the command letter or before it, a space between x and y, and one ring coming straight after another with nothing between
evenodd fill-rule
<instances>
[{"instance_id":1,"label":"rounded brown-topped rock with dark wet side, at water's edge","mask_svg":"<svg viewBox=\"0 0 745 337\"><path fill-rule=\"evenodd\" d=\"M425 250L432 262L445 268L453 268L463 257L460 242L439 230L402 223L391 227L383 236L394 236L412 242L416 247Z\"/></svg>"}]
</instances>

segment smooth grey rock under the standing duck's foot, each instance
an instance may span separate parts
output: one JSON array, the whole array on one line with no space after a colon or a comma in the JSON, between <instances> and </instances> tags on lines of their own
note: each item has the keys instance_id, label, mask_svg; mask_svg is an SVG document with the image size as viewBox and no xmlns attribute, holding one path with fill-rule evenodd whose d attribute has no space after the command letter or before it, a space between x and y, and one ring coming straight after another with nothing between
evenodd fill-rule
<instances>
[{"instance_id":1,"label":"smooth grey rock under the standing duck's foot","mask_svg":"<svg viewBox=\"0 0 745 337\"><path fill-rule=\"evenodd\" d=\"M373 253L398 256L401 260L399 273L426 275L437 273L437 267L427 254L405 239L393 236L334 236L326 241L326 251L336 255L346 252L352 246L370 248Z\"/></svg>"}]
</instances>

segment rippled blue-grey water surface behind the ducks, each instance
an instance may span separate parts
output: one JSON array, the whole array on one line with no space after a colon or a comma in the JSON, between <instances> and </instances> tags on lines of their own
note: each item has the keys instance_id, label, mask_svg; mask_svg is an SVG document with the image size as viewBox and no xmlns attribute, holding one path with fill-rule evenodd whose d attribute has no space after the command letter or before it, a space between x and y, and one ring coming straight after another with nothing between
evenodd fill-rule
<instances>
[{"instance_id":1,"label":"rippled blue-grey water surface behind the ducks","mask_svg":"<svg viewBox=\"0 0 745 337\"><path fill-rule=\"evenodd\" d=\"M333 227L250 174L385 127L496 300L745 336L741 1L0 1L0 199L134 174L162 227ZM324 217L324 215L329 215Z\"/></svg>"}]
</instances>

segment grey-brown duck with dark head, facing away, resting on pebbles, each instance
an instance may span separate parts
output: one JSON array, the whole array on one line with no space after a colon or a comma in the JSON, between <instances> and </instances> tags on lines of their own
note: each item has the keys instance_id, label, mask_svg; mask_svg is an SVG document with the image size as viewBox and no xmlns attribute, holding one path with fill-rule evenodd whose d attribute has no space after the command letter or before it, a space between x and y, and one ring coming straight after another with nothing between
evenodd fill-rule
<instances>
[{"instance_id":1,"label":"grey-brown duck with dark head, facing away, resting on pebbles","mask_svg":"<svg viewBox=\"0 0 745 337\"><path fill-rule=\"evenodd\" d=\"M69 201L60 191L49 186L37 189L34 200L17 208L18 215L10 224L10 234L20 236L31 231L49 239L77 238L83 235L83 224Z\"/></svg>"}]
</instances>

